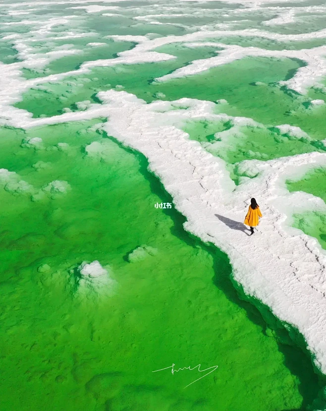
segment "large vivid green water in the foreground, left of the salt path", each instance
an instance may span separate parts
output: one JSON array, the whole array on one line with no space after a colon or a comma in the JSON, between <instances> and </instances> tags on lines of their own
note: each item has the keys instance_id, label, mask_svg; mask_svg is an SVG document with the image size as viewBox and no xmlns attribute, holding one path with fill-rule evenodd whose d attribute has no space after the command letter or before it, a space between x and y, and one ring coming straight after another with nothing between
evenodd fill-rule
<instances>
[{"instance_id":1,"label":"large vivid green water in the foreground, left of the salt path","mask_svg":"<svg viewBox=\"0 0 326 411\"><path fill-rule=\"evenodd\" d=\"M35 189L71 186L39 201L0 190L1 410L303 410L319 389L311 360L239 299L225 254L154 207L172 200L142 155L90 129L100 122L1 129L1 167ZM20 147L29 137L44 149ZM92 141L101 159L85 155ZM141 244L158 254L129 263ZM94 260L117 289L73 297L69 269ZM172 363L218 368L184 389L202 374L152 373Z\"/></svg>"}]
</instances>

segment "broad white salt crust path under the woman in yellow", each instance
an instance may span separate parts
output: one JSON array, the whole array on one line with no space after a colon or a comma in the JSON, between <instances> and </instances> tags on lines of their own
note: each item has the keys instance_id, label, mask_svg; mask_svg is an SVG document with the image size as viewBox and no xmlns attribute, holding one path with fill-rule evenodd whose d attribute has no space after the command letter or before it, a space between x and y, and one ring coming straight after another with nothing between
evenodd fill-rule
<instances>
[{"instance_id":1,"label":"broad white salt crust path under the woman in yellow","mask_svg":"<svg viewBox=\"0 0 326 411\"><path fill-rule=\"evenodd\" d=\"M93 104L85 112L25 117L16 126L109 117L106 131L149 159L150 169L187 218L184 228L227 253L235 280L247 294L272 307L274 315L298 328L316 365L326 373L326 253L316 239L289 227L286 217L307 210L325 212L326 204L307 193L289 193L285 186L286 178L300 178L310 168L326 166L326 154L244 161L243 173L259 175L242 177L235 186L225 163L174 125L184 119L214 118L214 103L181 99L146 104L113 90L98 97L103 104ZM264 217L259 232L249 237L242 221L254 193L259 194Z\"/></svg>"}]
</instances>

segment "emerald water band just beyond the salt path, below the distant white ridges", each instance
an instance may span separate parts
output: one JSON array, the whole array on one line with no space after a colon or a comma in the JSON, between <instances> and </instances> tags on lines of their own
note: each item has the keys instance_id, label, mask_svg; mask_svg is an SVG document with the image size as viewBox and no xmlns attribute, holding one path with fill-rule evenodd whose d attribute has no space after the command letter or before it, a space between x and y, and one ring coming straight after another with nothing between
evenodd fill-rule
<instances>
[{"instance_id":1,"label":"emerald water band just beyond the salt path, below the distant white ridges","mask_svg":"<svg viewBox=\"0 0 326 411\"><path fill-rule=\"evenodd\" d=\"M175 46L164 47L162 51L177 58L161 63L95 67L90 74L67 77L54 84L44 84L51 95L45 91L30 90L23 94L22 102L15 106L28 109L34 117L54 116L61 113L65 107L74 109L74 104L78 101L98 102L95 97L98 91L122 85L125 91L147 102L155 100L157 92L163 93L164 100L169 101L183 97L214 102L225 99L229 103L229 107L223 108L226 114L250 117L270 126L291 124L301 127L313 139L325 138L326 108L307 109L304 105L307 98L289 95L273 86L276 81L293 75L302 65L298 60L245 58L197 75L154 85L154 78L161 77L193 59L207 58L213 53L212 49L202 48L194 52ZM265 83L266 86L253 85L257 81ZM45 107L40 105L44 98L49 102Z\"/></svg>"}]
</instances>

